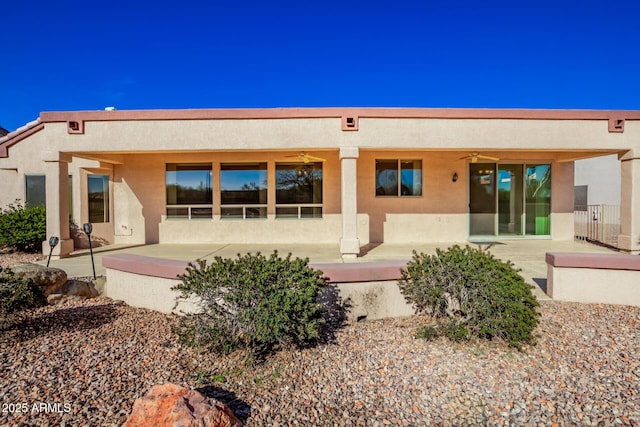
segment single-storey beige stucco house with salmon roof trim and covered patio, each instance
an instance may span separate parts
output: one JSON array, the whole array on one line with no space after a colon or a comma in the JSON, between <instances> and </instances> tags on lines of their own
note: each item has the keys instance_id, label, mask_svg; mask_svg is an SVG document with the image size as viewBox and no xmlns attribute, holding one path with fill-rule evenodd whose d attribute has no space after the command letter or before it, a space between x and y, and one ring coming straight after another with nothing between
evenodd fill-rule
<instances>
[{"instance_id":1,"label":"single-storey beige stucco house with salmon roof trim and covered patio","mask_svg":"<svg viewBox=\"0 0 640 427\"><path fill-rule=\"evenodd\" d=\"M0 138L0 206L108 243L573 239L574 161L621 162L640 252L640 111L402 108L46 112ZM78 244L78 242L76 242ZM48 253L48 246L45 246Z\"/></svg>"}]
</instances>

